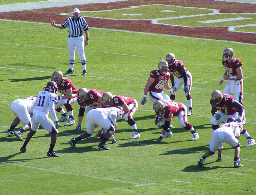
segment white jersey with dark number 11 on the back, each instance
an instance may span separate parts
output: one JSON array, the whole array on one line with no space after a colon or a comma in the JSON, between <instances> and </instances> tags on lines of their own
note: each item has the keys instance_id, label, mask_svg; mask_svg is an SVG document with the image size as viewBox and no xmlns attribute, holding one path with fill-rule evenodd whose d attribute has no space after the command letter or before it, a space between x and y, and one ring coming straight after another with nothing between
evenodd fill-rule
<instances>
[{"instance_id":1,"label":"white jersey with dark number 11 on the back","mask_svg":"<svg viewBox=\"0 0 256 195\"><path fill-rule=\"evenodd\" d=\"M45 115L49 114L49 102L54 101L56 104L58 96L55 93L49 91L41 91L37 94L37 100L35 102L35 112L43 112Z\"/></svg>"}]
</instances>

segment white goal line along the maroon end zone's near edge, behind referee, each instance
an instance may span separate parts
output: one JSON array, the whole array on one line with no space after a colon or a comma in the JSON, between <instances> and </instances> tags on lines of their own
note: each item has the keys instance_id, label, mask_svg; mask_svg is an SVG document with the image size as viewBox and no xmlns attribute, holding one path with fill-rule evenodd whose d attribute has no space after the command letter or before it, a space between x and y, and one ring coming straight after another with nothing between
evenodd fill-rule
<instances>
[{"instance_id":1,"label":"white goal line along the maroon end zone's near edge, behind referee","mask_svg":"<svg viewBox=\"0 0 256 195\"><path fill-rule=\"evenodd\" d=\"M49 23L43 23L43 22L15 21L15 20L6 20L6 19L0 19L0 21L24 22L24 23L35 23L35 24L49 25ZM217 40L217 39L206 39L206 38L197 38L197 37L189 37L189 36L166 35L166 34L158 34L158 33L144 33L144 32L136 32L136 31L109 29L109 28L90 27L90 29L104 30L104 31L115 31L115 32L123 32L123 33L135 33L135 34L141 34L141 35L167 36L167 37L185 38L185 39L195 39L195 40L209 40L209 41L218 41L218 42L225 42L225 43L235 43L235 44L240 44L240 45L252 45L252 46L256 45L256 44L254 44L254 43L243 43L243 42L236 42L236 41L225 41L225 40Z\"/></svg>"}]
</instances>

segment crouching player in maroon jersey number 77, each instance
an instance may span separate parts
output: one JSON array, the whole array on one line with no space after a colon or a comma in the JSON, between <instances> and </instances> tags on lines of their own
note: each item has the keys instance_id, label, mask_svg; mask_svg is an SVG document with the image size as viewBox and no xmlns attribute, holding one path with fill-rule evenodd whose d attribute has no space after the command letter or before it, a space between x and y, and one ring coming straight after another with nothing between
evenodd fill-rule
<instances>
[{"instance_id":1,"label":"crouching player in maroon jersey number 77","mask_svg":"<svg viewBox=\"0 0 256 195\"><path fill-rule=\"evenodd\" d=\"M232 95L226 95L221 93L219 90L215 90L212 92L210 104L212 105L211 112L213 118L211 119L211 124L213 132L219 128L220 123L226 121L230 117L236 118L237 122L241 122L241 115L243 113L244 106L236 101ZM248 140L246 147L255 145L255 140L250 136L245 128L243 128L241 134ZM210 145L210 142L207 143L207 145Z\"/></svg>"}]
</instances>

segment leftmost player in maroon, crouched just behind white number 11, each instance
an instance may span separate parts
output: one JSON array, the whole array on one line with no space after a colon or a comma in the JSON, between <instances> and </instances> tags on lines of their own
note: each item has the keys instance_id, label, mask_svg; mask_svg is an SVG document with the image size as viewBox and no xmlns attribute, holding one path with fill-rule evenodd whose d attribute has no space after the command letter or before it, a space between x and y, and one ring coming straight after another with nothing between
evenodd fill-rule
<instances>
[{"instance_id":1,"label":"leftmost player in maroon, crouched just behind white number 11","mask_svg":"<svg viewBox=\"0 0 256 195\"><path fill-rule=\"evenodd\" d=\"M73 85L70 79L63 77L62 72L59 70L53 73L52 81L57 83L58 91L63 94L62 96L58 96L56 103L56 111L61 114L59 122L68 121L64 126L75 125L72 104L77 103L76 93L78 89ZM62 105L65 106L68 113L65 113L64 109L61 107Z\"/></svg>"}]
</instances>

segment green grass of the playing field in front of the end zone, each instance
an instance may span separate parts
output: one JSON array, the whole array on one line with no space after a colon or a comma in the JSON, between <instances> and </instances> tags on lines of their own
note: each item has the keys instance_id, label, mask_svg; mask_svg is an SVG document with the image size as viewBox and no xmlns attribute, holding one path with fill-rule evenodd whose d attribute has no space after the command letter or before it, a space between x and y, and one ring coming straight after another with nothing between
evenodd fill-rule
<instances>
[{"instance_id":1,"label":"green grass of the playing field in front of the end zone","mask_svg":"<svg viewBox=\"0 0 256 195\"><path fill-rule=\"evenodd\" d=\"M71 148L69 139L78 134L75 126L60 124L55 151L59 158L47 158L49 133L41 129L19 153L23 142L6 137L14 116L10 104L18 98L36 95L50 80L52 72L68 70L67 30L50 25L1 22L0 41L0 174L1 194L254 194L255 147L247 148L241 136L241 163L233 168L234 150L224 144L223 162L209 157L203 168L196 167L198 158L208 150L211 139L210 95L222 90L218 81L224 73L222 51L232 47L241 59L244 75L244 104L248 132L256 135L255 89L256 46L254 44L189 39L91 28L86 46L88 76L81 76L82 67L76 54L75 74L67 76L77 88L99 89L113 94L134 97L139 107L134 115L141 138L130 140L132 132L125 121L118 123L117 144L107 142L108 151L98 151L95 134ZM38 30L40 29L40 31ZM10 36L10 33L12 32ZM160 130L154 125L152 103L140 104L150 71L166 54L172 52L192 73L194 115L188 121L198 131L198 141L179 126L172 125L173 136L155 144ZM225 83L226 84L226 83ZM182 90L176 101L186 104ZM78 104L74 106L77 121ZM58 117L59 114L57 113ZM18 125L22 126L22 124ZM86 120L82 123L85 132ZM18 129L18 127L16 128ZM79 132L80 133L80 132ZM23 133L25 138L26 132Z\"/></svg>"}]
</instances>

